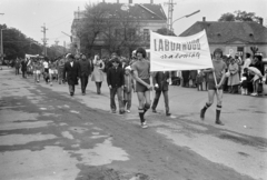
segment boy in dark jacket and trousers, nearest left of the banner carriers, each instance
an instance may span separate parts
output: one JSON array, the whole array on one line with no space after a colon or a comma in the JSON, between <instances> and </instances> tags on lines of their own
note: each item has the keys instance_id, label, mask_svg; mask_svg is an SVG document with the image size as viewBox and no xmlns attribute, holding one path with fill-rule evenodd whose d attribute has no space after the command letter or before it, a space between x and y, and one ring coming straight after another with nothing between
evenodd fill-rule
<instances>
[{"instance_id":1,"label":"boy in dark jacket and trousers, nearest left of the banner carriers","mask_svg":"<svg viewBox=\"0 0 267 180\"><path fill-rule=\"evenodd\" d=\"M122 102L122 89L125 86L125 76L122 68L119 66L119 59L115 58L112 60L112 68L108 69L107 82L110 89L110 109L112 113L116 113L115 96L117 94L119 101L119 113L125 113L123 102Z\"/></svg>"}]
</instances>

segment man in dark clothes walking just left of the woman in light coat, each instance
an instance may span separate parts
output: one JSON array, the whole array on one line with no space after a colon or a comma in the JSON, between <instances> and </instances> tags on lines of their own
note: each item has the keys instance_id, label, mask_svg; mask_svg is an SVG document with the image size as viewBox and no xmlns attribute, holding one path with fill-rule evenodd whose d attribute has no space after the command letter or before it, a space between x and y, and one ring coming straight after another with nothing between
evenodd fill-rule
<instances>
[{"instance_id":1,"label":"man in dark clothes walking just left of the woman in light coat","mask_svg":"<svg viewBox=\"0 0 267 180\"><path fill-rule=\"evenodd\" d=\"M88 77L91 74L91 66L89 60L86 59L85 54L81 54L81 59L79 61L80 69L80 81L81 81L81 93L86 94L86 88L88 84Z\"/></svg>"}]
</instances>

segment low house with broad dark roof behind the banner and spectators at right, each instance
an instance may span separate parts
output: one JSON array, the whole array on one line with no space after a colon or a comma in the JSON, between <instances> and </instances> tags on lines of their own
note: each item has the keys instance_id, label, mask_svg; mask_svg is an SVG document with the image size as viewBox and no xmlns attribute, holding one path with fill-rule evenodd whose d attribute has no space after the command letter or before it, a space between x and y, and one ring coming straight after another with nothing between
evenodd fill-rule
<instances>
[{"instance_id":1,"label":"low house with broad dark roof behind the banner and spectators at right","mask_svg":"<svg viewBox=\"0 0 267 180\"><path fill-rule=\"evenodd\" d=\"M180 37L187 37L206 30L210 52L221 48L225 54L235 56L246 52L253 53L250 47L258 47L258 53L267 57L267 28L257 22L233 22L233 21L197 21Z\"/></svg>"}]
</instances>

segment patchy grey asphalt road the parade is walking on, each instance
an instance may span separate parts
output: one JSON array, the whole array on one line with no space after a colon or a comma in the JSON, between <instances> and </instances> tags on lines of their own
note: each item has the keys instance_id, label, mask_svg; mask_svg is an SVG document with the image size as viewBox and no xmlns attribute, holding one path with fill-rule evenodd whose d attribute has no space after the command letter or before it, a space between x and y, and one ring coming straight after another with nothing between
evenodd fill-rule
<instances>
[{"instance_id":1,"label":"patchy grey asphalt road the parade is walking on","mask_svg":"<svg viewBox=\"0 0 267 180\"><path fill-rule=\"evenodd\" d=\"M215 106L199 119L207 92L170 87L172 116L146 116L141 129L134 94L130 113L109 112L109 92L90 81L80 88L34 84L0 71L1 180L249 180L267 179L265 97L225 94L221 120ZM162 98L162 97L161 97Z\"/></svg>"}]
</instances>

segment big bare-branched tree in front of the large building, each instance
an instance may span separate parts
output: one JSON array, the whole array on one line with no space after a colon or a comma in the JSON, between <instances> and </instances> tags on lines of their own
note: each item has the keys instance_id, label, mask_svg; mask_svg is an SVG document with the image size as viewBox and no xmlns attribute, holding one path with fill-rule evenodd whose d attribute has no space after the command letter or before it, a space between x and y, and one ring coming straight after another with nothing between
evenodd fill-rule
<instances>
[{"instance_id":1,"label":"big bare-branched tree in front of the large building","mask_svg":"<svg viewBox=\"0 0 267 180\"><path fill-rule=\"evenodd\" d=\"M79 24L77 36L83 52L91 52L99 46L109 53L130 54L145 42L140 29L146 23L128 11L113 11L102 3L87 4L85 18Z\"/></svg>"}]
</instances>

